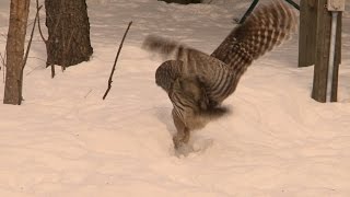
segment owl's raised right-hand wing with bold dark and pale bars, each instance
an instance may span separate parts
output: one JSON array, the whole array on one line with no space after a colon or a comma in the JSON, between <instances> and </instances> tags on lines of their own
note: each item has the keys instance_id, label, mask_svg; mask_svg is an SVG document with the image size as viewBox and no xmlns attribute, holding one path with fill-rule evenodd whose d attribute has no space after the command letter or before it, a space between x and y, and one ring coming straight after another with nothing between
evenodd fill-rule
<instances>
[{"instance_id":1,"label":"owl's raised right-hand wing with bold dark and pale bars","mask_svg":"<svg viewBox=\"0 0 350 197\"><path fill-rule=\"evenodd\" d=\"M288 39L296 24L295 12L288 4L277 0L261 4L211 56L232 68L246 68L254 59Z\"/></svg>"}]
</instances>

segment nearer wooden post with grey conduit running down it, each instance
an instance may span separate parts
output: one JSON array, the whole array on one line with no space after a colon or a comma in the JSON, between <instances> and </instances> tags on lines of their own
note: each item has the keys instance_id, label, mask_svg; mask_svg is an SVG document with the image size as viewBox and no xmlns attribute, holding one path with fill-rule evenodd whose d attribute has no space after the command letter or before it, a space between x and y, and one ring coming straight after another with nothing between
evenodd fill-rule
<instances>
[{"instance_id":1,"label":"nearer wooden post with grey conduit running down it","mask_svg":"<svg viewBox=\"0 0 350 197\"><path fill-rule=\"evenodd\" d=\"M316 45L315 68L312 97L318 102L326 102L327 74L330 44L331 12L326 8L327 0L316 0ZM331 90L331 102L337 101L338 70L341 59L341 12L338 14L335 66Z\"/></svg>"}]
</instances>

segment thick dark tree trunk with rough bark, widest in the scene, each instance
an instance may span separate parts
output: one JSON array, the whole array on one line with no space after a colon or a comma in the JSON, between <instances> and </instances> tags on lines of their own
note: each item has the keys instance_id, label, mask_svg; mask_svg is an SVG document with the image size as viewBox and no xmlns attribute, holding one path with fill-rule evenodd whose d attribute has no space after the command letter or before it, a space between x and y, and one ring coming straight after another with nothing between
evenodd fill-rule
<instances>
[{"instance_id":1,"label":"thick dark tree trunk with rough bark, widest in the scene","mask_svg":"<svg viewBox=\"0 0 350 197\"><path fill-rule=\"evenodd\" d=\"M45 8L47 66L66 68L88 61L93 48L85 0L45 0Z\"/></svg>"}]
</instances>

